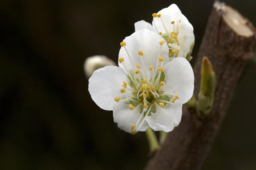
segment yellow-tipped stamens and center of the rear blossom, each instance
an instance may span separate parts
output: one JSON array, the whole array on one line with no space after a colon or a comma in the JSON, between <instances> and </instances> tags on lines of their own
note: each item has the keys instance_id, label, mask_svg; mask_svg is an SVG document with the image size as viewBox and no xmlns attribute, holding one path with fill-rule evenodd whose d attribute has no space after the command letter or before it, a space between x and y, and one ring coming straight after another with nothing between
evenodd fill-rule
<instances>
[{"instance_id":1,"label":"yellow-tipped stamens and center of the rear blossom","mask_svg":"<svg viewBox=\"0 0 256 170\"><path fill-rule=\"evenodd\" d=\"M172 21L172 32L170 30L167 29L166 25L164 24L164 21L161 17L161 14L152 14L153 16L153 25L154 28L156 30L156 32L159 32L159 35L162 36L162 38L168 43L169 46L169 57L175 58L177 57L177 53L179 53L180 50L180 43L178 40L178 34L179 34L179 29L180 29L180 21ZM160 19L161 20L161 24L164 28L164 31L166 32L165 34L162 34L162 30L160 30L161 28L157 28L156 26L156 19ZM161 32L162 31L162 32ZM175 51L173 51L175 50Z\"/></svg>"}]
</instances>

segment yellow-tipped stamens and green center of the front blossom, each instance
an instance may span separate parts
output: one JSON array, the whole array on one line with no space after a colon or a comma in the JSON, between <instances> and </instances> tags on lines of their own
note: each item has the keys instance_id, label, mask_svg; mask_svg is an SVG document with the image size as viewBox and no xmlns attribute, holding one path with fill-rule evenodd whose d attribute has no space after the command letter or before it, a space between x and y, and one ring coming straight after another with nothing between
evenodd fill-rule
<instances>
[{"instance_id":1,"label":"yellow-tipped stamens and green center of the front blossom","mask_svg":"<svg viewBox=\"0 0 256 170\"><path fill-rule=\"evenodd\" d=\"M164 40L160 41L159 44L160 50L159 54L161 52L161 48L163 45ZM132 69L128 70L125 66L124 58L119 58L119 62L123 64L126 73L128 74L128 78L131 80L130 85L132 88L127 87L127 83L123 81L122 89L120 89L120 92L123 94L120 97L115 97L116 102L128 102L129 109L130 110L138 110L140 112L140 118L136 122L136 124L133 124L131 126L131 133L135 134L137 130L140 129L142 124L145 121L145 117L150 116L151 113L156 112L156 107L158 109L163 108L167 103L172 104L176 99L178 99L177 94L171 94L166 93L162 89L164 87L164 68L163 68L163 61L164 59L162 57L158 57L156 60L155 66L150 66L149 68L145 67L144 59L143 59L143 52L139 51L138 54L143 66L143 69L141 69L139 64L134 65L130 54L128 50L126 49L126 43L121 42L120 45L125 48L125 51L128 55L128 58L130 60L130 63L132 65ZM160 67L159 67L160 66ZM154 69L154 67L156 69ZM144 73L141 74L140 71ZM148 72L148 73L147 73ZM150 74L149 74L150 73ZM152 76L150 76L152 74ZM149 77L150 76L150 77ZM170 96L173 98L170 100Z\"/></svg>"}]
</instances>

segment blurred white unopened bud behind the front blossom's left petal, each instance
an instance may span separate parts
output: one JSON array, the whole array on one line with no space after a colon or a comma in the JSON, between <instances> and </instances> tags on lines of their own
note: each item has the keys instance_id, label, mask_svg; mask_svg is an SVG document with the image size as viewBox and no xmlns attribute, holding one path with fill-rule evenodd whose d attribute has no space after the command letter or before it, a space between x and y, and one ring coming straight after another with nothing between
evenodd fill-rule
<instances>
[{"instance_id":1,"label":"blurred white unopened bud behind the front blossom's left petal","mask_svg":"<svg viewBox=\"0 0 256 170\"><path fill-rule=\"evenodd\" d=\"M93 72L105 66L116 66L116 63L105 55L94 55L84 61L84 74L89 79Z\"/></svg>"}]
</instances>

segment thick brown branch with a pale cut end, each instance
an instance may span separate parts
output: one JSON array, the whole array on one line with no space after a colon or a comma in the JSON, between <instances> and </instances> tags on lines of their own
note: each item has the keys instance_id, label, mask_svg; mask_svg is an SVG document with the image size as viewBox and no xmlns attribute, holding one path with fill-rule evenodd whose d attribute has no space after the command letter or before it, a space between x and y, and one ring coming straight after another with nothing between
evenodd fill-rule
<instances>
[{"instance_id":1,"label":"thick brown branch with a pale cut end","mask_svg":"<svg viewBox=\"0 0 256 170\"><path fill-rule=\"evenodd\" d=\"M149 160L146 170L198 170L218 134L228 100L244 66L252 58L255 42L252 23L231 7L222 7L212 9L194 67L196 97L204 56L212 62L216 73L215 98L210 115L200 119L193 110L183 107L180 125L168 134L161 149Z\"/></svg>"}]
</instances>

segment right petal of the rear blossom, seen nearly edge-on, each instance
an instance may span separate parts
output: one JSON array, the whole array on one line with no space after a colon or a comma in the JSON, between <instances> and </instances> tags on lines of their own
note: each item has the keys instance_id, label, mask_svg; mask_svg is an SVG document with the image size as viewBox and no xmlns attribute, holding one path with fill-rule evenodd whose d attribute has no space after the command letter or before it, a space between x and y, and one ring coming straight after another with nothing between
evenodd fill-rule
<instances>
[{"instance_id":1,"label":"right petal of the rear blossom, seen nearly edge-on","mask_svg":"<svg viewBox=\"0 0 256 170\"><path fill-rule=\"evenodd\" d=\"M190 51L190 46L195 42L195 35L193 31L193 26L188 22L188 19L183 14L181 14L178 39L180 43L180 49L183 52L183 57L185 58Z\"/></svg>"}]
</instances>

